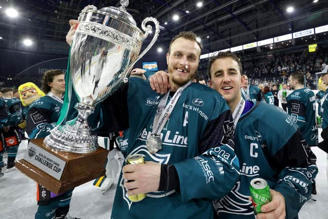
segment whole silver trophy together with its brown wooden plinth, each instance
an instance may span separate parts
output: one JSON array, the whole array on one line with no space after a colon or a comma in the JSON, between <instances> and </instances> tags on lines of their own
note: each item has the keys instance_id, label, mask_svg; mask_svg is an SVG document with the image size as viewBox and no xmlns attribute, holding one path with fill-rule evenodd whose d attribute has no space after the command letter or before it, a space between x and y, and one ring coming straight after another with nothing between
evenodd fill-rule
<instances>
[{"instance_id":1,"label":"whole silver trophy together with its brown wooden plinth","mask_svg":"<svg viewBox=\"0 0 328 219\"><path fill-rule=\"evenodd\" d=\"M18 170L56 194L104 175L108 151L98 147L87 118L94 106L128 81L133 65L154 45L159 24L155 18L142 21L143 33L127 12L129 1L121 7L97 10L85 7L73 38L70 53L70 80L79 103L74 124L58 126L45 140L31 140L24 158L16 162ZM142 42L155 25L147 48Z\"/></svg>"}]
</instances>

